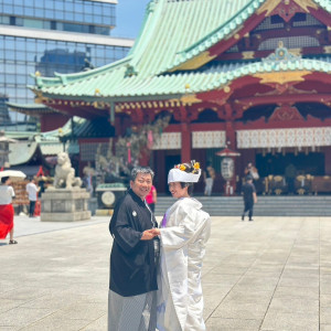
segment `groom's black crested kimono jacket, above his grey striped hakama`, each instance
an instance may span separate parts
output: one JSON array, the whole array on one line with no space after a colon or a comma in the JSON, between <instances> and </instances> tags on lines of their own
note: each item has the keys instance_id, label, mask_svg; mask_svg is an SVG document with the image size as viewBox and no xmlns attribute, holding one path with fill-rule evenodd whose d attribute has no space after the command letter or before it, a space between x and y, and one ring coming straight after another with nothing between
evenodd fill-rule
<instances>
[{"instance_id":1,"label":"groom's black crested kimono jacket, above his grey striped hakama","mask_svg":"<svg viewBox=\"0 0 331 331\"><path fill-rule=\"evenodd\" d=\"M142 232L157 226L151 212L132 190L117 203L109 231L110 290L131 297L158 289L153 241L140 241Z\"/></svg>"}]
</instances>

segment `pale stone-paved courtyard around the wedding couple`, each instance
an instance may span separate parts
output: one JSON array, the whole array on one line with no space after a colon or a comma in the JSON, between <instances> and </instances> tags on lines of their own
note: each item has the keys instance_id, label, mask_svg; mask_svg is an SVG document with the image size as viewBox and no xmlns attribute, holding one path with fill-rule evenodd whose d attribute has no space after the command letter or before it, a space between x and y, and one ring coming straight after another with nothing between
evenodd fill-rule
<instances>
[{"instance_id":1,"label":"pale stone-paved courtyard around the wedding couple","mask_svg":"<svg viewBox=\"0 0 331 331\"><path fill-rule=\"evenodd\" d=\"M213 330L331 330L330 217L212 217L203 266ZM0 241L0 330L107 329L108 217L15 217ZM135 330L132 330L135 331Z\"/></svg>"}]
</instances>

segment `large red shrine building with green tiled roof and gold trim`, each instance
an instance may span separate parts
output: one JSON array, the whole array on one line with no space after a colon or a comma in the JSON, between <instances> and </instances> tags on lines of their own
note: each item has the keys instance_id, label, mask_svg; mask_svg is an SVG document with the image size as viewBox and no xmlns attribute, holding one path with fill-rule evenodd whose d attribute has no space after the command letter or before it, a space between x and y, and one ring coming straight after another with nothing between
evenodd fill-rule
<instances>
[{"instance_id":1,"label":"large red shrine building with green tiled roof and gold trim","mask_svg":"<svg viewBox=\"0 0 331 331\"><path fill-rule=\"evenodd\" d=\"M140 160L156 170L159 192L168 170L192 159L215 169L214 193L224 192L216 153L227 147L238 154L234 192L253 162L266 194L264 179L284 177L289 163L316 178L311 193L331 193L330 0L152 0L124 60L34 78L36 100L56 111L40 115L47 129L62 114L109 121L118 137L171 115ZM81 156L95 143L79 141Z\"/></svg>"}]
</instances>

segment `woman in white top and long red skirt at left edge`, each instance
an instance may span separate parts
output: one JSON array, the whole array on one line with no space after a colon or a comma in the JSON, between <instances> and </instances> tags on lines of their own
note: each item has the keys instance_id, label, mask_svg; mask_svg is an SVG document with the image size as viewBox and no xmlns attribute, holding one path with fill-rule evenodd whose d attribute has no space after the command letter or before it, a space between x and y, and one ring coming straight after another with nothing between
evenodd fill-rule
<instances>
[{"instance_id":1,"label":"woman in white top and long red skirt at left edge","mask_svg":"<svg viewBox=\"0 0 331 331\"><path fill-rule=\"evenodd\" d=\"M1 178L0 185L0 239L6 239L9 233L9 244L18 244L13 238L13 217L14 210L12 200L15 197L13 188L10 185L9 177Z\"/></svg>"}]
</instances>

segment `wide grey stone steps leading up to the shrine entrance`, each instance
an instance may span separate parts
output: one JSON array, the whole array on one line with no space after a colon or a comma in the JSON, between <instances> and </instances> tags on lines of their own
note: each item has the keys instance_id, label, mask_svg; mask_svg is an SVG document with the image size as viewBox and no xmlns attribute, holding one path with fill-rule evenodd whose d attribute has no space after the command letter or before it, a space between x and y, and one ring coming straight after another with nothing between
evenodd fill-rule
<instances>
[{"instance_id":1,"label":"wide grey stone steps leading up to the shrine entrance","mask_svg":"<svg viewBox=\"0 0 331 331\"><path fill-rule=\"evenodd\" d=\"M211 216L241 216L244 207L242 196L194 196ZM330 216L330 195L279 195L258 196L255 216ZM169 195L158 196L156 215L161 216L174 203Z\"/></svg>"}]
</instances>

